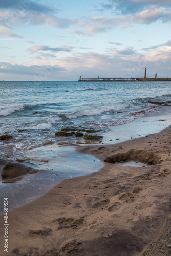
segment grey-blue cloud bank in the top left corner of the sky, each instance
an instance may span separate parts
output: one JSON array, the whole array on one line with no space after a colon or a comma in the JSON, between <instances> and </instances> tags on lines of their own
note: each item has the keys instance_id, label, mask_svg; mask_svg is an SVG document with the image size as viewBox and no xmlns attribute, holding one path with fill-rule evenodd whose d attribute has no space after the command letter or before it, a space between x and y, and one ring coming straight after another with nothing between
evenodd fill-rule
<instances>
[{"instance_id":1,"label":"grey-blue cloud bank in the top left corner of the sky","mask_svg":"<svg viewBox=\"0 0 171 256\"><path fill-rule=\"evenodd\" d=\"M73 19L59 18L56 13L54 7L29 0L0 0L0 21L8 26L32 24L68 28L76 23Z\"/></svg>"}]
</instances>

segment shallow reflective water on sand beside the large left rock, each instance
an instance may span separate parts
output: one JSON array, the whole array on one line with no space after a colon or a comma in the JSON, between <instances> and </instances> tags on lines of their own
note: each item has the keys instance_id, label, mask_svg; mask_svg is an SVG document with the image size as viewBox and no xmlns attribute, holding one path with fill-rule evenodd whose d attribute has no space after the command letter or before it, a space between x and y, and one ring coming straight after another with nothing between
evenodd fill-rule
<instances>
[{"instance_id":1,"label":"shallow reflective water on sand beside the large left rock","mask_svg":"<svg viewBox=\"0 0 171 256\"><path fill-rule=\"evenodd\" d=\"M75 147L59 148L55 144L29 150L27 155L40 171L16 179L1 179L0 196L8 197L9 209L18 208L41 197L64 179L88 175L104 166L97 158L76 152ZM1 200L0 212L3 208Z\"/></svg>"}]
</instances>

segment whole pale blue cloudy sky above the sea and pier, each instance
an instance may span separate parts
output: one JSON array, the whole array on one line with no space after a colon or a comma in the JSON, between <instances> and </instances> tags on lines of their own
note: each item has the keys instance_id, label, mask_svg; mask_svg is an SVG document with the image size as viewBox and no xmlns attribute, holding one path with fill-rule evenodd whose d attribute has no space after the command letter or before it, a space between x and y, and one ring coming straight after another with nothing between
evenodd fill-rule
<instances>
[{"instance_id":1,"label":"whole pale blue cloudy sky above the sea and pier","mask_svg":"<svg viewBox=\"0 0 171 256\"><path fill-rule=\"evenodd\" d=\"M0 0L0 80L171 77L170 0Z\"/></svg>"}]
</instances>

